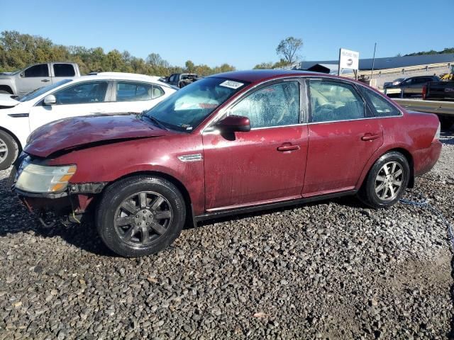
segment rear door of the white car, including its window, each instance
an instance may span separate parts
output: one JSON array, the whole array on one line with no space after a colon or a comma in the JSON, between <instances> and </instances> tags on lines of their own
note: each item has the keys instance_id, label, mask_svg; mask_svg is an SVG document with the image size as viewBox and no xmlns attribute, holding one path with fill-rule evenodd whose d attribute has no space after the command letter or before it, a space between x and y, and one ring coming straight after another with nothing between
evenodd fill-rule
<instances>
[{"instance_id":1,"label":"rear door of the white car, including its window","mask_svg":"<svg viewBox=\"0 0 454 340\"><path fill-rule=\"evenodd\" d=\"M117 80L106 113L141 113L153 108L165 95L161 86L144 81Z\"/></svg>"}]
</instances>

